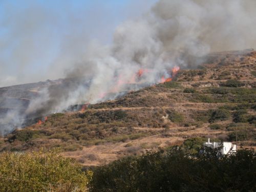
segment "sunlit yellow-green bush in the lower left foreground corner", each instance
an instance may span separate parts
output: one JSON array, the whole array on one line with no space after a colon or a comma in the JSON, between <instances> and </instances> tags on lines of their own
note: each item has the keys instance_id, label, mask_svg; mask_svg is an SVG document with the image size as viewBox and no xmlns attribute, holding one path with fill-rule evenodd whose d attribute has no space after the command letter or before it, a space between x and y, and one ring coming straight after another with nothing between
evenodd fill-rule
<instances>
[{"instance_id":1,"label":"sunlit yellow-green bush in the lower left foreground corner","mask_svg":"<svg viewBox=\"0 0 256 192\"><path fill-rule=\"evenodd\" d=\"M0 154L0 191L86 191L90 177L58 150Z\"/></svg>"}]
</instances>

